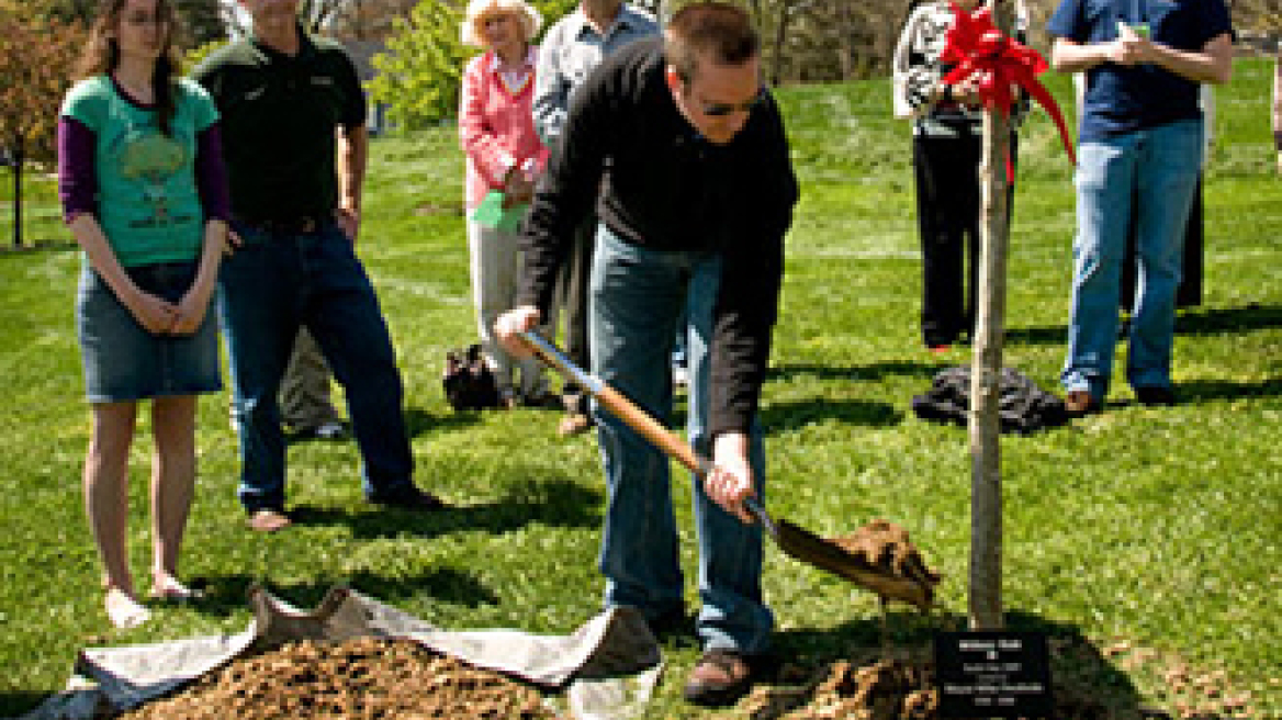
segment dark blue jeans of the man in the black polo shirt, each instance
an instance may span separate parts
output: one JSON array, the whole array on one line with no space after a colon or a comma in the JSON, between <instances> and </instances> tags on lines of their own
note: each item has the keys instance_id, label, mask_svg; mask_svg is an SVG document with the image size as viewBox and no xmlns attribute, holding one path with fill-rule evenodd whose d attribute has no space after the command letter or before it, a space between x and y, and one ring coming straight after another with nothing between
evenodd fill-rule
<instances>
[{"instance_id":1,"label":"dark blue jeans of the man in the black polo shirt","mask_svg":"<svg viewBox=\"0 0 1282 720\"><path fill-rule=\"evenodd\" d=\"M347 398L367 497L412 487L414 460L391 334L351 241L335 224L272 233L236 224L244 243L223 260L218 309L232 369L241 503L285 506L285 434L277 391L306 327Z\"/></svg>"}]
</instances>

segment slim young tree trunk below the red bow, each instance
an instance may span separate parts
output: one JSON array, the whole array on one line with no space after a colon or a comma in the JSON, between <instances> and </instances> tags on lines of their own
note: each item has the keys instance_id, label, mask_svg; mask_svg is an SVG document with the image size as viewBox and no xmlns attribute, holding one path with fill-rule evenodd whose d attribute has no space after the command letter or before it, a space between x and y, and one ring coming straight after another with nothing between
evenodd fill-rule
<instances>
[{"instance_id":1,"label":"slim young tree trunk below the red bow","mask_svg":"<svg viewBox=\"0 0 1282 720\"><path fill-rule=\"evenodd\" d=\"M1003 35L1010 35L1009 12L987 0ZM1006 159L1010 122L1001 111L983 114L979 165L979 292L970 369L970 593L973 630L996 630L1001 620L1001 425L997 416L1001 340L1006 306Z\"/></svg>"}]
</instances>

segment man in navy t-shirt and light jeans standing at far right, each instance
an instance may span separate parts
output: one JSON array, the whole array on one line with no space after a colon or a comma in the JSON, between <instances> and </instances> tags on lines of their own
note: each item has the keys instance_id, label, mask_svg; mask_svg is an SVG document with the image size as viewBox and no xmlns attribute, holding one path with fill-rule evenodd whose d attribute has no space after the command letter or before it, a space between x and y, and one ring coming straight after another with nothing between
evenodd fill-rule
<instances>
[{"instance_id":1,"label":"man in navy t-shirt and light jeans standing at far right","mask_svg":"<svg viewBox=\"0 0 1282 720\"><path fill-rule=\"evenodd\" d=\"M1232 72L1223 0L1063 0L1046 27L1051 64L1086 73L1078 136L1077 237L1068 357L1073 415L1108 395L1127 223L1137 224L1140 293L1127 382L1145 405L1173 405L1170 352L1183 224L1203 154L1200 83Z\"/></svg>"}]
</instances>

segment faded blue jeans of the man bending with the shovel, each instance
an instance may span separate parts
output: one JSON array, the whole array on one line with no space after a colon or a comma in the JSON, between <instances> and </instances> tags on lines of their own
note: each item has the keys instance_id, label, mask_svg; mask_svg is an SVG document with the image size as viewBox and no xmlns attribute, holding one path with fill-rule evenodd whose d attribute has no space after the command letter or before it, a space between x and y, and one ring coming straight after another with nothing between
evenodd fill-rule
<instances>
[{"instance_id":1,"label":"faded blue jeans of the man bending with the shovel","mask_svg":"<svg viewBox=\"0 0 1282 720\"><path fill-rule=\"evenodd\" d=\"M713 304L720 258L712 252L654 251L597 231L588 305L592 372L655 418L672 414L672 343L688 309L687 434L709 456L708 411ZM687 305L688 300L688 305ZM668 459L594 404L609 507L600 569L608 606L637 607L649 619L683 607L677 525ZM760 433L750 460L764 492ZM746 525L708 498L692 479L699 533L699 635L708 650L764 652L774 618L762 602L762 528Z\"/></svg>"}]
</instances>

